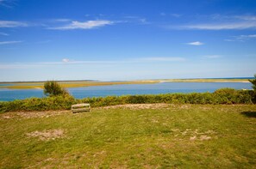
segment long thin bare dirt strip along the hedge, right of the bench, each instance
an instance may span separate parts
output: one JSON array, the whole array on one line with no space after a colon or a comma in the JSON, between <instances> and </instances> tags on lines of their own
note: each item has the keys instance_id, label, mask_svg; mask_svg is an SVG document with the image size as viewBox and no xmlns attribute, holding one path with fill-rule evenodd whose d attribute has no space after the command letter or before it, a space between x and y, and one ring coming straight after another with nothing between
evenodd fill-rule
<instances>
[{"instance_id":1,"label":"long thin bare dirt strip along the hedge, right of the bench","mask_svg":"<svg viewBox=\"0 0 256 169\"><path fill-rule=\"evenodd\" d=\"M125 108L131 110L138 109L159 109L159 108L168 108L169 104L158 103L158 104L126 104L126 105L116 105L116 106L104 106L99 107L98 109L116 109L116 108Z\"/></svg>"}]
</instances>

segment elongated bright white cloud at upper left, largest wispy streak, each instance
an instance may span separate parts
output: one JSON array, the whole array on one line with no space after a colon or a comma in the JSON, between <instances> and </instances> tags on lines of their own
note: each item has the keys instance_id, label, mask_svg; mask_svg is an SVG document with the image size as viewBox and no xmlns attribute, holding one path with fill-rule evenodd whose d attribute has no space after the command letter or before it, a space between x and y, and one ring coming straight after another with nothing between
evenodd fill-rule
<instances>
[{"instance_id":1,"label":"elongated bright white cloud at upper left, largest wispy streak","mask_svg":"<svg viewBox=\"0 0 256 169\"><path fill-rule=\"evenodd\" d=\"M70 29L92 29L96 27L103 27L106 25L113 24L113 21L107 20L97 20L97 21L72 21L72 23L62 26L62 27L49 27L49 29L56 29L56 30L70 30Z\"/></svg>"}]
</instances>

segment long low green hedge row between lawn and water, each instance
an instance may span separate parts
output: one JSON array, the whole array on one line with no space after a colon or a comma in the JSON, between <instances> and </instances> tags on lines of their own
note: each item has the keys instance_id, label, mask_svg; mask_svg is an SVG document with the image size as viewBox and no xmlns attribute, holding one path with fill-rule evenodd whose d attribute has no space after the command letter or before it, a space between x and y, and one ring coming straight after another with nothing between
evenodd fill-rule
<instances>
[{"instance_id":1,"label":"long low green hedge row between lawn and water","mask_svg":"<svg viewBox=\"0 0 256 169\"><path fill-rule=\"evenodd\" d=\"M69 110L72 104L77 103L90 103L91 107L143 103L253 104L253 91L222 88L214 93L125 95L82 100L76 100L72 96L30 98L0 102L0 112Z\"/></svg>"}]
</instances>

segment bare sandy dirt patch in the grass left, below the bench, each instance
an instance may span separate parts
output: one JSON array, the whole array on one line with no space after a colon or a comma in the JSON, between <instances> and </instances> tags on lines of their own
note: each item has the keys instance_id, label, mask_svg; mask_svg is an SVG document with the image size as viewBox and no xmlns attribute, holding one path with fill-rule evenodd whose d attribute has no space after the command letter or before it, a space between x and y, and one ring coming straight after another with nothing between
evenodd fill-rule
<instances>
[{"instance_id":1,"label":"bare sandy dirt patch in the grass left, below the bench","mask_svg":"<svg viewBox=\"0 0 256 169\"><path fill-rule=\"evenodd\" d=\"M27 133L28 137L38 137L41 141L55 140L64 136L64 130L42 130Z\"/></svg>"}]
</instances>

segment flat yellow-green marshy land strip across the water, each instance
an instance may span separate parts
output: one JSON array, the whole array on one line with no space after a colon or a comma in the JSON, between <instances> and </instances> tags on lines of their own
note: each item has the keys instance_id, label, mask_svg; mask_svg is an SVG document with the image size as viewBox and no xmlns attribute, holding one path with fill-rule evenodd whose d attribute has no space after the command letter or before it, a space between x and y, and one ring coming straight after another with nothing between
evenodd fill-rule
<instances>
[{"instance_id":1,"label":"flat yellow-green marshy land strip across the water","mask_svg":"<svg viewBox=\"0 0 256 169\"><path fill-rule=\"evenodd\" d=\"M124 84L153 84L159 82L249 82L252 78L202 78L202 79L162 79L162 80L144 80L144 81L58 81L63 88L82 88L91 86L108 86ZM0 82L0 88L9 89L42 89L45 81L18 81L18 82ZM4 85L6 84L6 86Z\"/></svg>"}]
</instances>

